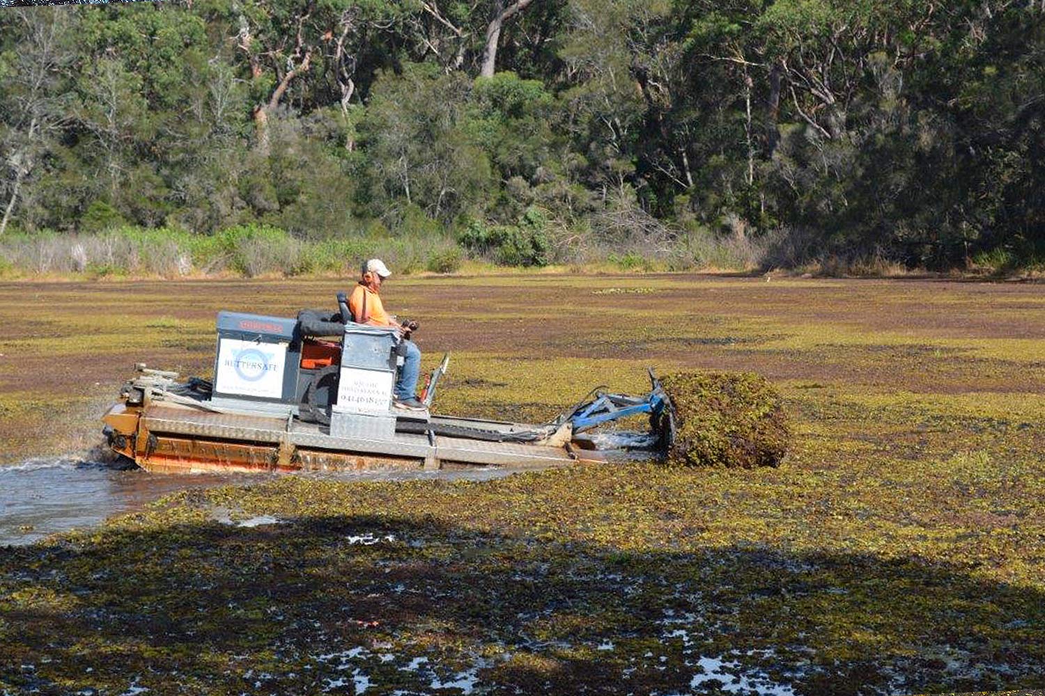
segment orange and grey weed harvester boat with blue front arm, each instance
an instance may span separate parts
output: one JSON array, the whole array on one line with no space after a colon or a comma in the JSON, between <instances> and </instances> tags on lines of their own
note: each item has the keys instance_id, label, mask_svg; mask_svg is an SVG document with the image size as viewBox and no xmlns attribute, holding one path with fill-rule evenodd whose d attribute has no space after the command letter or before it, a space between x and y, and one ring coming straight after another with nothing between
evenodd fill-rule
<instances>
[{"instance_id":1,"label":"orange and grey weed harvester boat with blue front arm","mask_svg":"<svg viewBox=\"0 0 1045 696\"><path fill-rule=\"evenodd\" d=\"M425 410L393 408L402 365L394 329L340 312L295 318L219 312L213 381L137 365L102 417L109 447L156 472L384 470L503 465L657 456L674 437L670 400L650 370L641 397L593 390L543 425L436 415L449 355L428 376ZM649 433L591 434L649 414Z\"/></svg>"}]
</instances>

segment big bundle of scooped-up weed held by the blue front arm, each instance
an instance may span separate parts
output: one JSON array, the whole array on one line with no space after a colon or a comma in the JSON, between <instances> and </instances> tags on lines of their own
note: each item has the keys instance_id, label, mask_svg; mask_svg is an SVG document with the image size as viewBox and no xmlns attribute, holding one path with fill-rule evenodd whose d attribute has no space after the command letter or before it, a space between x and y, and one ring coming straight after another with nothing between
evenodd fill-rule
<instances>
[{"instance_id":1,"label":"big bundle of scooped-up weed held by the blue front arm","mask_svg":"<svg viewBox=\"0 0 1045 696\"><path fill-rule=\"evenodd\" d=\"M790 432L776 389L756 373L676 373L660 380L675 407L675 466L753 469L784 459Z\"/></svg>"}]
</instances>

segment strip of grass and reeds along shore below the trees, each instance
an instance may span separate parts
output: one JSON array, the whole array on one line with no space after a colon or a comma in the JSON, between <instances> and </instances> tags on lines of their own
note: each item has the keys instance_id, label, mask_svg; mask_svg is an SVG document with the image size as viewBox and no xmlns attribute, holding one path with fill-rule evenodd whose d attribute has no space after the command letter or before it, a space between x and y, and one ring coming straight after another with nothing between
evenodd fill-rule
<instances>
[{"instance_id":1,"label":"strip of grass and reeds along shore below the trees","mask_svg":"<svg viewBox=\"0 0 1045 696\"><path fill-rule=\"evenodd\" d=\"M781 256L773 250L772 239L743 235L717 237L679 231L669 241L651 244L635 239L610 243L575 236L559 239L543 231L531 233L532 238L519 233L504 239L466 233L454 236L448 231L307 239L261 224L238 225L212 235L133 226L93 234L43 231L0 237L0 281L324 279L353 275L362 259L375 256L400 275L768 271L820 278L1003 280L1041 279L1045 268L1034 259L1021 266L1005 254L980 255L966 259L963 267L933 271L908 267L881 250L869 255L854 251L851 256L837 251Z\"/></svg>"}]
</instances>

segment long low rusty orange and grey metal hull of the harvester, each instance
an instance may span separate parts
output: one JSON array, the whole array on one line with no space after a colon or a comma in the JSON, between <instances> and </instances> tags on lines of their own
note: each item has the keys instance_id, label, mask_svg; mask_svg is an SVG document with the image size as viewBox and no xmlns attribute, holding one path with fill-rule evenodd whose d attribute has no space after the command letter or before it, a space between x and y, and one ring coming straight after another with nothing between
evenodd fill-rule
<instances>
[{"instance_id":1,"label":"long low rusty orange and grey metal hull of the harvester","mask_svg":"<svg viewBox=\"0 0 1045 696\"><path fill-rule=\"evenodd\" d=\"M293 417L216 413L169 402L117 404L102 419L110 428L113 450L152 472L544 469L605 460L603 453L568 443L550 447L401 432L391 438L335 437L326 426ZM470 418L436 416L432 422L500 432L516 428Z\"/></svg>"}]
</instances>

